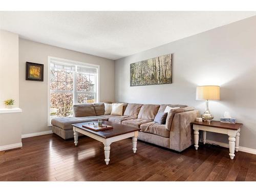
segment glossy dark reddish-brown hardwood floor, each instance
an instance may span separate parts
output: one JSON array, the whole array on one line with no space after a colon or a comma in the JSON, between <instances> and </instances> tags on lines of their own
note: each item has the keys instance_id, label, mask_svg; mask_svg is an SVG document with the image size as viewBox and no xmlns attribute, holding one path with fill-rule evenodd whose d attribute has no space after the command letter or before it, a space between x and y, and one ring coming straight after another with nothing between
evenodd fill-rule
<instances>
[{"instance_id":1,"label":"glossy dark reddish-brown hardwood floor","mask_svg":"<svg viewBox=\"0 0 256 192\"><path fill-rule=\"evenodd\" d=\"M228 149L190 147L181 154L132 140L111 144L105 165L103 144L65 141L54 134L25 138L22 150L0 152L0 181L256 181L256 155Z\"/></svg>"}]
</instances>

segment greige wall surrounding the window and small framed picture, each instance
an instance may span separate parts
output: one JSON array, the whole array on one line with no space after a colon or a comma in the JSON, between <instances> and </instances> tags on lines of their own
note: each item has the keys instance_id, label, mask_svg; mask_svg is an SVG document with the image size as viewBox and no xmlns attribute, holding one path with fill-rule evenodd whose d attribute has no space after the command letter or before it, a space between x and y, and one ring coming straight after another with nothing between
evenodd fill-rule
<instances>
[{"instance_id":1,"label":"greige wall surrounding the window and small framed picture","mask_svg":"<svg viewBox=\"0 0 256 192\"><path fill-rule=\"evenodd\" d=\"M114 101L114 61L19 38L19 102L22 134L50 130L47 126L48 56L100 66L100 101ZM44 81L26 80L26 61L44 64Z\"/></svg>"}]
</instances>

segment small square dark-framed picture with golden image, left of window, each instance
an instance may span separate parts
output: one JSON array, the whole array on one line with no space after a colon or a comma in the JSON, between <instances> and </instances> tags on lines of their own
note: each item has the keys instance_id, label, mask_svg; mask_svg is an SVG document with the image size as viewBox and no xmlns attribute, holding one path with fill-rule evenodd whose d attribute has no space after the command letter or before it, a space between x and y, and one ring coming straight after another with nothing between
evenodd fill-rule
<instances>
[{"instance_id":1,"label":"small square dark-framed picture with golden image, left of window","mask_svg":"<svg viewBox=\"0 0 256 192\"><path fill-rule=\"evenodd\" d=\"M26 80L44 81L44 65L26 62Z\"/></svg>"}]
</instances>

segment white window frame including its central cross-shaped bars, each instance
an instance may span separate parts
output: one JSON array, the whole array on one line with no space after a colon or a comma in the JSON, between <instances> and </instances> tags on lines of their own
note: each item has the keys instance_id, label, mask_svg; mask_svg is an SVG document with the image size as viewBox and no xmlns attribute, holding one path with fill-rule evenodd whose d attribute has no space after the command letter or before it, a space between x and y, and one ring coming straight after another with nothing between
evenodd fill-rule
<instances>
[{"instance_id":1,"label":"white window frame including its central cross-shaped bars","mask_svg":"<svg viewBox=\"0 0 256 192\"><path fill-rule=\"evenodd\" d=\"M95 65L95 64L91 64L91 63L85 63L85 62L80 62L80 61L74 61L74 60L69 60L69 59L63 59L63 58L58 58L58 57L52 57L52 56L48 56L48 82L47 82L47 85L48 85L48 110L47 110L47 124L48 126L52 126L51 122L50 122L50 107L51 107L51 91L50 91L50 62L51 62L51 59L55 59L55 60L58 60L58 61L62 61L62 62L67 62L67 63L71 63L72 65L75 65L75 67L77 68L77 66L82 66L82 67L94 67L94 68L97 68L97 74L96 74L96 82L95 82L95 91L96 91L96 94L95 94L95 102L99 102L100 98L99 98L99 74L100 74L100 66L99 65ZM75 76L76 76L76 73L74 73ZM75 77L74 77L75 78ZM56 91L56 92L61 92L61 91ZM77 95L78 93L92 93L92 92L83 92L83 91L79 91L77 92L76 91L76 81L74 80L74 90L73 91L62 91L63 93L74 93L74 104L77 103Z\"/></svg>"}]
</instances>

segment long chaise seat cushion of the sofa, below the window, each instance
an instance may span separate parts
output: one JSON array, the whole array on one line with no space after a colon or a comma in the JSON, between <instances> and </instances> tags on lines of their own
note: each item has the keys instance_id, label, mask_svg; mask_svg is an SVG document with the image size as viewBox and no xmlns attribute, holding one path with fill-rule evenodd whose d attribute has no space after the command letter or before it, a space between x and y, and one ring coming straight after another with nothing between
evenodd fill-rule
<instances>
[{"instance_id":1,"label":"long chaise seat cushion of the sofa, below the window","mask_svg":"<svg viewBox=\"0 0 256 192\"><path fill-rule=\"evenodd\" d=\"M90 116L90 117L59 117L54 118L51 121L51 124L57 126L63 130L73 129L72 124L88 122L88 121L97 121L98 119L104 119L99 116Z\"/></svg>"}]
</instances>

